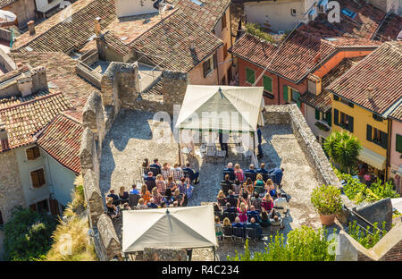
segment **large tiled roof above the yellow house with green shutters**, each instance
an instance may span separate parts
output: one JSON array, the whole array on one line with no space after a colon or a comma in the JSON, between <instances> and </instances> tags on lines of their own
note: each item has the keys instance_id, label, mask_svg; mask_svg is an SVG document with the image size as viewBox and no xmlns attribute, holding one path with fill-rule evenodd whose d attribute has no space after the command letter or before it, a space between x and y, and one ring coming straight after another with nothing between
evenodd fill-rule
<instances>
[{"instance_id":1,"label":"large tiled roof above the yellow house with green shutters","mask_svg":"<svg viewBox=\"0 0 402 279\"><path fill-rule=\"evenodd\" d=\"M402 42L386 42L327 88L332 93L384 114L402 97ZM373 99L367 96L373 89Z\"/></svg>"}]
</instances>

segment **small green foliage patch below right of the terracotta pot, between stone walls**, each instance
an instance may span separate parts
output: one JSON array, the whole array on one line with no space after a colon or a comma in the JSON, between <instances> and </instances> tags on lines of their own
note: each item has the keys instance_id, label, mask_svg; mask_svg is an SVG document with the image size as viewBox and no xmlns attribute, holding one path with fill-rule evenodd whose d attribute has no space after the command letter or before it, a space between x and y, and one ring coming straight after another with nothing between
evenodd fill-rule
<instances>
[{"instance_id":1,"label":"small green foliage patch below right of the terracotta pot, between stone walls","mask_svg":"<svg viewBox=\"0 0 402 279\"><path fill-rule=\"evenodd\" d=\"M382 223L382 231L385 231L386 222ZM349 223L348 225L348 234L353 237L357 242L362 244L366 249L372 248L378 241L381 240L380 230L378 229L378 223L373 224L373 232L370 233L370 226L367 226L365 230L356 224L356 221L353 223Z\"/></svg>"}]
</instances>

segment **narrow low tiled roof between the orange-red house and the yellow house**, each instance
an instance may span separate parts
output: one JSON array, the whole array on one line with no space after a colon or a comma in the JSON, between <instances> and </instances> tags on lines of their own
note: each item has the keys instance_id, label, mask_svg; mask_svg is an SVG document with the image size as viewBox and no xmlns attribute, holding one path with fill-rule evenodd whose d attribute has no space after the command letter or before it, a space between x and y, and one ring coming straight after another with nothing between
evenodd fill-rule
<instances>
[{"instance_id":1,"label":"narrow low tiled roof between the orange-red house and the yellow house","mask_svg":"<svg viewBox=\"0 0 402 279\"><path fill-rule=\"evenodd\" d=\"M344 58L337 66L335 66L330 72L322 77L322 92L315 95L310 92L306 92L300 97L300 101L305 102L309 106L327 113L331 109L331 92L326 89L333 80L338 79L342 74L348 72L348 70L355 65L358 61L364 57L356 58Z\"/></svg>"}]
</instances>

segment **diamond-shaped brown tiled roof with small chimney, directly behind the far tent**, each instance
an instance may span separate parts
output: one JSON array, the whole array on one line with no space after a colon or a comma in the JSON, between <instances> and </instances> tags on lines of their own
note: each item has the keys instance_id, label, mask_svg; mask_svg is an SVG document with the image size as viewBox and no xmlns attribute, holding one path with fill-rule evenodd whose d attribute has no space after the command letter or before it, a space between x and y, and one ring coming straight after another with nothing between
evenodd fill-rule
<instances>
[{"instance_id":1,"label":"diamond-shaped brown tiled roof with small chimney, directly behind the far tent","mask_svg":"<svg viewBox=\"0 0 402 279\"><path fill-rule=\"evenodd\" d=\"M194 41L194 51L188 47L190 39ZM161 68L188 72L221 47L222 41L177 10L129 46Z\"/></svg>"}]
</instances>

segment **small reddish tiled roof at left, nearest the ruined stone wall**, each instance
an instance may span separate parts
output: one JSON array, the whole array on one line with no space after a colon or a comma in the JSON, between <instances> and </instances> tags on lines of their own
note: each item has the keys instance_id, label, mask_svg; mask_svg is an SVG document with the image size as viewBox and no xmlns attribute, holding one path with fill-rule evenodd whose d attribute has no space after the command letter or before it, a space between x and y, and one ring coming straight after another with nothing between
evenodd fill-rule
<instances>
[{"instance_id":1,"label":"small reddish tiled roof at left, nearest the ruined stone wall","mask_svg":"<svg viewBox=\"0 0 402 279\"><path fill-rule=\"evenodd\" d=\"M37 144L61 165L74 173L80 173L80 146L83 131L82 124L60 114L38 133Z\"/></svg>"}]
</instances>

